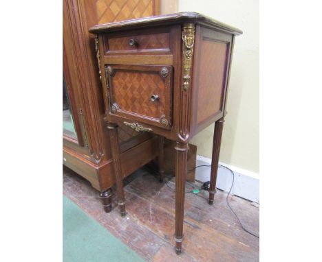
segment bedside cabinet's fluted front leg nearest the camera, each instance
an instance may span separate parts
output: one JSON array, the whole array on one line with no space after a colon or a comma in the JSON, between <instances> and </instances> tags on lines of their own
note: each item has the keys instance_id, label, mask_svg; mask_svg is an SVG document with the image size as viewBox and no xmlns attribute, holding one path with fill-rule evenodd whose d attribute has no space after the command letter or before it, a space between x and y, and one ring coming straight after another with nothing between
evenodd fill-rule
<instances>
[{"instance_id":1,"label":"bedside cabinet's fluted front leg nearest the camera","mask_svg":"<svg viewBox=\"0 0 322 262\"><path fill-rule=\"evenodd\" d=\"M189 150L187 143L175 145L175 252L181 253L184 220L184 190L186 185L186 156Z\"/></svg>"}]
</instances>

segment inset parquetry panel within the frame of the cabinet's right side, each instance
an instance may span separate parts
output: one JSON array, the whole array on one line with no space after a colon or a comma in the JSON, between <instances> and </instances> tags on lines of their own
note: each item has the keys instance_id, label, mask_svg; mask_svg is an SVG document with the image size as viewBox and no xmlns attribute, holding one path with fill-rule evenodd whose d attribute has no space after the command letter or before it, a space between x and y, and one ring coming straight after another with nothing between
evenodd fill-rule
<instances>
[{"instance_id":1,"label":"inset parquetry panel within the frame of the cabinet's right side","mask_svg":"<svg viewBox=\"0 0 322 262\"><path fill-rule=\"evenodd\" d=\"M197 75L197 126L222 112L229 43L202 37Z\"/></svg>"}]
</instances>

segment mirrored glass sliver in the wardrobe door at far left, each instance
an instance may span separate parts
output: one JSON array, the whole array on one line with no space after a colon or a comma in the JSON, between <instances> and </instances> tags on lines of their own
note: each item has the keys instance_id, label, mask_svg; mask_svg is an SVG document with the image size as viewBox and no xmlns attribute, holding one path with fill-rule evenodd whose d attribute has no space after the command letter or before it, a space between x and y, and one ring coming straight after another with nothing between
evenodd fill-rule
<instances>
[{"instance_id":1,"label":"mirrored glass sliver in the wardrobe door at far left","mask_svg":"<svg viewBox=\"0 0 322 262\"><path fill-rule=\"evenodd\" d=\"M72 117L72 108L70 107L65 78L63 76L63 135L72 139L77 139L74 121Z\"/></svg>"}]
</instances>

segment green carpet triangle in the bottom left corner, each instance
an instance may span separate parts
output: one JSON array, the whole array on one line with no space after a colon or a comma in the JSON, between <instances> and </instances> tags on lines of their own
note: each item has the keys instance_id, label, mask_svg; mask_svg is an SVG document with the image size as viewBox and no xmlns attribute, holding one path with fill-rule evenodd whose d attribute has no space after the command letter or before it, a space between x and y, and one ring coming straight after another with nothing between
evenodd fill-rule
<instances>
[{"instance_id":1,"label":"green carpet triangle in the bottom left corner","mask_svg":"<svg viewBox=\"0 0 322 262\"><path fill-rule=\"evenodd\" d=\"M144 260L64 195L63 261L141 262Z\"/></svg>"}]
</instances>

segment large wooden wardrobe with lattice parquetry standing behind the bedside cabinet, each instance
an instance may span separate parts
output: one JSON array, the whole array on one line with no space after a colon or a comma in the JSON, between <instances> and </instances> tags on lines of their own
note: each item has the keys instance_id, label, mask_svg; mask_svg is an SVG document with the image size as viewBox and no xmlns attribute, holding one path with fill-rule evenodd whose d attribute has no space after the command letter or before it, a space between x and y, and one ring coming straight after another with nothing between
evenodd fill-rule
<instances>
[{"instance_id":1,"label":"large wooden wardrobe with lattice parquetry standing behind the bedside cabinet","mask_svg":"<svg viewBox=\"0 0 322 262\"><path fill-rule=\"evenodd\" d=\"M103 121L105 108L95 38L88 29L97 23L155 14L160 14L159 0L63 1L63 73L77 134L77 139L63 135L63 165L89 180L101 194L111 195L108 189L116 180L111 142ZM158 150L153 151L158 140L152 134L135 133L120 123L121 165L126 167L126 176L158 156ZM153 154L138 154L143 150ZM109 211L106 201L103 200L104 209Z\"/></svg>"}]
</instances>

